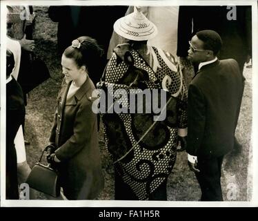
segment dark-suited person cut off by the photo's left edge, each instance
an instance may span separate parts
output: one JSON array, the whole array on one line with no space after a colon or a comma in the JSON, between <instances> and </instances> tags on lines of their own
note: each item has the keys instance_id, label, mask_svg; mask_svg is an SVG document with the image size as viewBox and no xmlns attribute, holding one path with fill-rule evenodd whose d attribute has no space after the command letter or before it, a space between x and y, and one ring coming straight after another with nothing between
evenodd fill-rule
<instances>
[{"instance_id":1,"label":"dark-suited person cut off by the photo's left edge","mask_svg":"<svg viewBox=\"0 0 258 221\"><path fill-rule=\"evenodd\" d=\"M19 199L14 137L25 119L21 86L10 75L13 68L14 56L10 50L6 50L6 199L8 200Z\"/></svg>"}]
</instances>

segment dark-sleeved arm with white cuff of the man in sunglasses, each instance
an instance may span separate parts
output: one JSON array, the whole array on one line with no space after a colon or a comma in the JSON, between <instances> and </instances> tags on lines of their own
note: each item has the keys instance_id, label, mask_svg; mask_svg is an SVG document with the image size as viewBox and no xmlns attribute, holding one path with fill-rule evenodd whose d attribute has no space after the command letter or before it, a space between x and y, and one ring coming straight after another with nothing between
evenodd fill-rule
<instances>
[{"instance_id":1,"label":"dark-sleeved arm with white cuff of the man in sunglasses","mask_svg":"<svg viewBox=\"0 0 258 221\"><path fill-rule=\"evenodd\" d=\"M197 152L201 146L206 124L206 105L201 90L190 84L188 89L188 137L186 152L188 165L192 171L196 170ZM192 159L192 160L190 160Z\"/></svg>"}]
</instances>

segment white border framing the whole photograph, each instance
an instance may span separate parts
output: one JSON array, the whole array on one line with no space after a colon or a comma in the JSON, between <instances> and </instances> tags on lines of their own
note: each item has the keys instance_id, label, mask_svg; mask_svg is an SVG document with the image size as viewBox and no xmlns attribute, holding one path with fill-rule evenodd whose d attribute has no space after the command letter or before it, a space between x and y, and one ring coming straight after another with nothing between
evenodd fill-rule
<instances>
[{"instance_id":1,"label":"white border framing the whole photograph","mask_svg":"<svg viewBox=\"0 0 258 221\"><path fill-rule=\"evenodd\" d=\"M52 5L125 5L125 6L252 6L252 137L250 148L252 148L252 199L250 202L179 202L179 201L121 201L121 200L5 200L6 199L6 6L7 5L30 5L30 6L52 6ZM0 144L1 144L1 206L39 206L39 207L228 207L228 206L258 206L258 128L257 128L257 97L258 97L258 18L257 1L143 1L143 0L97 0L97 1L1 1L1 118L0 118Z\"/></svg>"}]
</instances>

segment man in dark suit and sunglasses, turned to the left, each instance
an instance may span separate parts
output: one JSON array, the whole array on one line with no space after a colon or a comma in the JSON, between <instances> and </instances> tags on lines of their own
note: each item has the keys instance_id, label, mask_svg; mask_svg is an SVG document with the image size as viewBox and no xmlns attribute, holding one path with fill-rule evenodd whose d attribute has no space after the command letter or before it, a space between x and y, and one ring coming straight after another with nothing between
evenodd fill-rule
<instances>
[{"instance_id":1,"label":"man in dark suit and sunglasses, turned to the left","mask_svg":"<svg viewBox=\"0 0 258 221\"><path fill-rule=\"evenodd\" d=\"M234 145L243 79L237 61L217 59L222 45L217 32L201 30L189 44L188 57L199 70L188 88L188 165L201 200L221 201L221 165Z\"/></svg>"}]
</instances>

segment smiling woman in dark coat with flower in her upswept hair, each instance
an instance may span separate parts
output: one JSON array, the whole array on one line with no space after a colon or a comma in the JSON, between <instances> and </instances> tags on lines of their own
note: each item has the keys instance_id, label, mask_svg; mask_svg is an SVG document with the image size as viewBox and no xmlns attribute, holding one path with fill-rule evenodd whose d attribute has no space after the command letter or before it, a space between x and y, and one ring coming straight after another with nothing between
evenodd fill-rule
<instances>
[{"instance_id":1,"label":"smiling woman in dark coat with flower in her upswept hair","mask_svg":"<svg viewBox=\"0 0 258 221\"><path fill-rule=\"evenodd\" d=\"M50 135L48 162L57 167L68 200L90 200L103 188L97 115L92 112L95 64L102 50L90 37L79 37L61 58L63 83Z\"/></svg>"}]
</instances>

